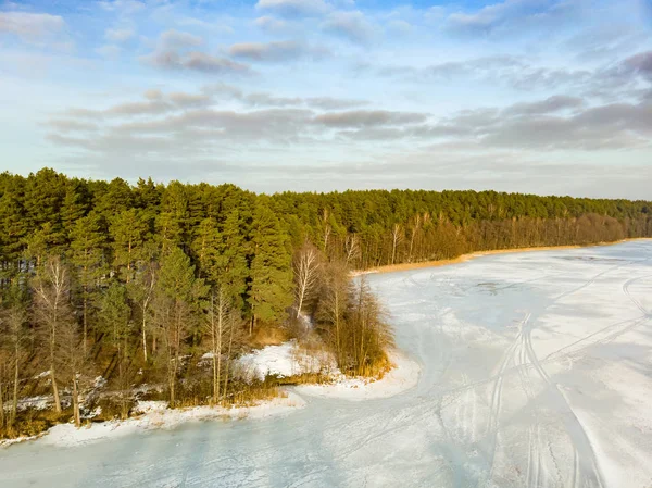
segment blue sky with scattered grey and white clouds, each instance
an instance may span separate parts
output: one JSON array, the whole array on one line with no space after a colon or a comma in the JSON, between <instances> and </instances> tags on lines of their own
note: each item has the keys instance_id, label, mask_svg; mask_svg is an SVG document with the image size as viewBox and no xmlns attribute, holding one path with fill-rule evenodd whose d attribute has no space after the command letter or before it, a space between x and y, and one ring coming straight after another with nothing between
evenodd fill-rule
<instances>
[{"instance_id":1,"label":"blue sky with scattered grey and white clouds","mask_svg":"<svg viewBox=\"0 0 652 488\"><path fill-rule=\"evenodd\" d=\"M650 0L0 0L1 171L652 200Z\"/></svg>"}]
</instances>

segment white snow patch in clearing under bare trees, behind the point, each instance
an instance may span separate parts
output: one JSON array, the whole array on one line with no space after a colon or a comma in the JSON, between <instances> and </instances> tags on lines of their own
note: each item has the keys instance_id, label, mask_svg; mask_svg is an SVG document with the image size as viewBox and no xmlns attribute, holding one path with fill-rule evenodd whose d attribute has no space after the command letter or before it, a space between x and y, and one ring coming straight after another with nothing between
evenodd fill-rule
<instances>
[{"instance_id":1,"label":"white snow patch in clearing under bare trees, behind the point","mask_svg":"<svg viewBox=\"0 0 652 488\"><path fill-rule=\"evenodd\" d=\"M294 341L266 346L238 359L239 376L251 383L267 376L287 378L305 373L329 374L336 370L334 358L321 351L305 351Z\"/></svg>"}]
</instances>

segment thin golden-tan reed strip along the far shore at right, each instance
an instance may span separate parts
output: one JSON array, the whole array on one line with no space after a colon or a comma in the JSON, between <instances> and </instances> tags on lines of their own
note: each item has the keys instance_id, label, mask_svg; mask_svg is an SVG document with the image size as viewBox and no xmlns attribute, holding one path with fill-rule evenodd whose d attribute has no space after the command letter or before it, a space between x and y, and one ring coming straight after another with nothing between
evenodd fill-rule
<instances>
[{"instance_id":1,"label":"thin golden-tan reed strip along the far shore at right","mask_svg":"<svg viewBox=\"0 0 652 488\"><path fill-rule=\"evenodd\" d=\"M457 258L452 258L448 260L435 260L435 261L419 261L416 263L401 263L401 264L386 264L384 266L371 267L364 271L354 272L355 275L365 275L365 274L386 274L386 273L396 273L401 271L411 271L411 270L421 270L424 267L440 267L440 266L450 266L452 264L461 264L472 261L476 258L482 258L486 255L496 255L496 254L513 254L518 252L544 252L544 251L564 251L570 249L586 249L586 248L599 248L599 247L609 247L616 246L625 242L635 242L635 241L652 241L652 237L634 237L623 240L617 240L614 242L597 242L590 245L568 245L568 246L541 246L541 247L530 247L530 248L510 248L510 249L494 249L490 251L476 251L467 254L459 255Z\"/></svg>"}]
</instances>

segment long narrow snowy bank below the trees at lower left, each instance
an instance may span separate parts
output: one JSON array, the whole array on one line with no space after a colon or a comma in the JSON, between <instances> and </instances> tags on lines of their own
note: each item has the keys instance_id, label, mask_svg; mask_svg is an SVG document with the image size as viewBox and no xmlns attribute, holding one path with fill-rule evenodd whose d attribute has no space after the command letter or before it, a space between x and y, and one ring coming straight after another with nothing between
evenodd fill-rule
<instances>
[{"instance_id":1,"label":"long narrow snowy bank below the trees at lower left","mask_svg":"<svg viewBox=\"0 0 652 488\"><path fill-rule=\"evenodd\" d=\"M38 442L59 447L74 447L106 439L115 439L146 430L171 429L186 422L211 420L267 418L287 415L296 409L302 409L305 402L291 391L286 397L262 401L252 406L223 408L195 406L190 409L167 409L166 402L141 401L136 410L141 415L125 421L109 421L92 423L76 428L73 424L60 424L49 429ZM28 439L23 439L28 440ZM8 442L9 445L9 442ZM2 446L2 445L0 445Z\"/></svg>"}]
</instances>

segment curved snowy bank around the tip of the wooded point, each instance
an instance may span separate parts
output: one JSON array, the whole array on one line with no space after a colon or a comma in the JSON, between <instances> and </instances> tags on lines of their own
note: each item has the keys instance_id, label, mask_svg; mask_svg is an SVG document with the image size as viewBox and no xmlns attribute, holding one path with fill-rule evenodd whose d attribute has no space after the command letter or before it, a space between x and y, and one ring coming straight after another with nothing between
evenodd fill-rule
<instances>
[{"instance_id":1,"label":"curved snowy bank around the tip of the wooded point","mask_svg":"<svg viewBox=\"0 0 652 488\"><path fill-rule=\"evenodd\" d=\"M362 401L393 397L416 386L419 365L398 351L392 351L389 359L394 367L381 379L351 378L340 373L333 383L299 385L296 391L311 397Z\"/></svg>"}]
</instances>

